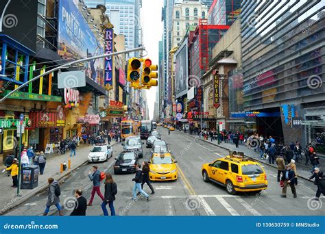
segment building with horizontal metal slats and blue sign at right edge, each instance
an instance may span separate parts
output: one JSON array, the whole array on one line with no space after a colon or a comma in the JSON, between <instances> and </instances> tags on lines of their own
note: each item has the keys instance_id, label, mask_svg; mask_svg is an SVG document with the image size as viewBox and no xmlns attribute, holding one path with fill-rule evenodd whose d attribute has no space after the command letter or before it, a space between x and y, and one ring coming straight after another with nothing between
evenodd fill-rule
<instances>
[{"instance_id":1,"label":"building with horizontal metal slats and blue sign at right edge","mask_svg":"<svg viewBox=\"0 0 325 234\"><path fill-rule=\"evenodd\" d=\"M324 3L241 3L244 110L278 142L324 146Z\"/></svg>"}]
</instances>

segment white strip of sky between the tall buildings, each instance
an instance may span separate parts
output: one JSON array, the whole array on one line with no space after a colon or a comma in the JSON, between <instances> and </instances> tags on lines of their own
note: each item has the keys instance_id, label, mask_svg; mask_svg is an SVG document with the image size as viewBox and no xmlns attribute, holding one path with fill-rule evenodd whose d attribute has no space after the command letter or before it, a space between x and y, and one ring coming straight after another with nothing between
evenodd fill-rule
<instances>
[{"instance_id":1,"label":"white strip of sky between the tall buildings","mask_svg":"<svg viewBox=\"0 0 325 234\"><path fill-rule=\"evenodd\" d=\"M163 22L161 22L161 8L163 0L142 0L141 26L143 29L143 43L153 64L159 62L159 41L163 36ZM144 53L145 55L145 53ZM158 75L160 77L160 74ZM159 79L159 78L158 78ZM157 87L152 87L147 92L149 117L154 116L154 102L156 101Z\"/></svg>"}]
</instances>

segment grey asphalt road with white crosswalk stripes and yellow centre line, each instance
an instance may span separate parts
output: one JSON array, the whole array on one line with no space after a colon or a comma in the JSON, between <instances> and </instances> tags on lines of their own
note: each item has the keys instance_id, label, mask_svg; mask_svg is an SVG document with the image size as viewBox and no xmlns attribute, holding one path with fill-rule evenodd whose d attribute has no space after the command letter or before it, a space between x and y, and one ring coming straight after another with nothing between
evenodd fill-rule
<instances>
[{"instance_id":1,"label":"grey asphalt road with white crosswalk stripes and yellow centre line","mask_svg":"<svg viewBox=\"0 0 325 234\"><path fill-rule=\"evenodd\" d=\"M156 193L149 201L141 198L131 200L134 174L117 174L113 178L118 186L115 210L119 216L322 216L325 211L324 196L321 202L311 200L315 196L316 186L309 181L298 181L296 187L298 198L293 198L291 190L287 190L287 198L280 198L281 188L276 183L276 169L263 165L267 173L269 186L267 190L256 193L239 193L229 195L224 187L202 180L202 164L211 162L228 152L217 146L191 137L190 135L158 127L163 140L169 143L171 154L178 161L178 181L153 183ZM114 147L113 157L106 163L97 164L99 170L113 172L115 157L121 152L121 144ZM149 159L149 148L143 147L145 160ZM81 157L81 156L80 156ZM83 155L87 157L87 155ZM142 160L141 160L142 161ZM92 183L88 179L88 171L93 164L78 168L61 185L61 205L64 204L64 215L69 216L69 200L73 190L81 188L89 199ZM149 187L145 185L149 193ZM101 185L104 194L104 185ZM41 216L47 202L46 192L27 200L26 203L7 213L7 216ZM88 207L87 216L102 216L100 198L95 195L92 207ZM56 207L51 207L50 214L58 215Z\"/></svg>"}]
</instances>

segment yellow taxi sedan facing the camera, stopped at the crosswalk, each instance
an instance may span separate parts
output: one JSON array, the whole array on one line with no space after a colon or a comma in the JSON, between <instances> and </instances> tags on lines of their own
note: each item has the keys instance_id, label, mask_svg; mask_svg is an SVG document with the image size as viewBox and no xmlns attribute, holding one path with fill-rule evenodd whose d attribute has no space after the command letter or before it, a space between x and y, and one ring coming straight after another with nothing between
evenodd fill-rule
<instances>
[{"instance_id":1,"label":"yellow taxi sedan facing the camera, stopped at the crosswalk","mask_svg":"<svg viewBox=\"0 0 325 234\"><path fill-rule=\"evenodd\" d=\"M177 161L173 160L167 146L154 146L149 163L149 179L151 181L176 181Z\"/></svg>"}]
</instances>

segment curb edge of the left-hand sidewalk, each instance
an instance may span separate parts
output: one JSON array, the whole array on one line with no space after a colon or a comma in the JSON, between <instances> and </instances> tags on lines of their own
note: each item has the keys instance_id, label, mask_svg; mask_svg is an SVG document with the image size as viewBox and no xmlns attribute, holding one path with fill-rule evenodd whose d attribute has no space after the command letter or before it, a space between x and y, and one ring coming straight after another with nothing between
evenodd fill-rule
<instances>
[{"instance_id":1,"label":"curb edge of the left-hand sidewalk","mask_svg":"<svg viewBox=\"0 0 325 234\"><path fill-rule=\"evenodd\" d=\"M115 142L114 144L111 144L110 146L115 146L115 144L117 144L117 143ZM82 161L82 163L77 164L77 166L75 166L71 170L67 171L65 174L60 174L60 176L58 176L57 178L54 178L54 179L56 181L60 182L65 177L69 176L69 174L71 174L72 172L74 172L75 170L77 170L77 168L80 168L80 166L83 166L84 164L87 164L87 163L88 163L88 159L86 159L85 161ZM32 196L35 196L36 194L39 194L41 192L44 192L47 189L47 187L48 186L45 183L44 185L42 185L42 186L38 187L36 190L34 190L32 193L30 193L30 194L26 195L25 197L17 200L16 203L12 204L8 209L5 209L5 211L3 211L1 213L1 216L3 216L5 213L8 213L9 211L11 211L12 209L14 209L15 207L18 207L19 205L21 205L22 203L24 203L29 198L32 198ZM16 198L16 196L14 196L14 198Z\"/></svg>"}]
</instances>

